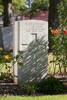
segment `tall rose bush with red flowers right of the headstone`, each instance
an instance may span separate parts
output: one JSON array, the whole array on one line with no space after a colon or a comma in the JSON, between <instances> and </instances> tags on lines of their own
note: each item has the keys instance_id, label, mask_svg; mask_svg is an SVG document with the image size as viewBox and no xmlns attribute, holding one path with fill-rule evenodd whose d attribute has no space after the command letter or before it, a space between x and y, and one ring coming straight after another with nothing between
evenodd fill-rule
<instances>
[{"instance_id":1,"label":"tall rose bush with red flowers right of the headstone","mask_svg":"<svg viewBox=\"0 0 67 100\"><path fill-rule=\"evenodd\" d=\"M52 28L52 40L53 40L53 67L59 66L59 72L61 68L64 68L66 73L67 67L67 28L61 25L59 29L53 30Z\"/></svg>"}]
</instances>

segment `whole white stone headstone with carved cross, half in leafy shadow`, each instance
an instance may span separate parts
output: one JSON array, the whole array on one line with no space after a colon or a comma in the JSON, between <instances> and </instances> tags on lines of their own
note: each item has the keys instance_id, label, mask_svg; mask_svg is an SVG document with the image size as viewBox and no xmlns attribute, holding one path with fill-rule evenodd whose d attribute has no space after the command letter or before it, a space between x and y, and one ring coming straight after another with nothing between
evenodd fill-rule
<instances>
[{"instance_id":1,"label":"whole white stone headstone with carved cross, half in leafy shadow","mask_svg":"<svg viewBox=\"0 0 67 100\"><path fill-rule=\"evenodd\" d=\"M41 80L48 71L48 22L39 20L17 21L14 34L14 55L23 51L24 66L14 66L18 82ZM17 70L18 69L18 70ZM17 79L17 78L15 78Z\"/></svg>"}]
</instances>

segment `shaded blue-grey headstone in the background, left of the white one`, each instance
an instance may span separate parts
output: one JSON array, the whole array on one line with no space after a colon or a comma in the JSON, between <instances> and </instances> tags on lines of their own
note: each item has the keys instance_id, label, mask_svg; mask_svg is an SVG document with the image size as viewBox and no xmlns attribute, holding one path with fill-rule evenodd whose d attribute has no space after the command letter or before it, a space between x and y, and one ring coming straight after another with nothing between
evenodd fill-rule
<instances>
[{"instance_id":1,"label":"shaded blue-grey headstone in the background, left of the white one","mask_svg":"<svg viewBox=\"0 0 67 100\"><path fill-rule=\"evenodd\" d=\"M4 50L13 50L13 27L2 27L2 41Z\"/></svg>"}]
</instances>

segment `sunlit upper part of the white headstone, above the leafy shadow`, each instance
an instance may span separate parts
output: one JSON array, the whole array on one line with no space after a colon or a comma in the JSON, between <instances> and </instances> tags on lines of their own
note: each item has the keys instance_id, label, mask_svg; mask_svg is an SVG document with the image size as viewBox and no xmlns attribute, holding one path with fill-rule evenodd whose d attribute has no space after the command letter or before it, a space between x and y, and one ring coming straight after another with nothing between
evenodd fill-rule
<instances>
[{"instance_id":1,"label":"sunlit upper part of the white headstone, above the leafy shadow","mask_svg":"<svg viewBox=\"0 0 67 100\"><path fill-rule=\"evenodd\" d=\"M23 50L27 44L42 37L45 41L48 41L48 22L41 20L23 20L17 21L16 24L16 29L19 32L19 50Z\"/></svg>"}]
</instances>

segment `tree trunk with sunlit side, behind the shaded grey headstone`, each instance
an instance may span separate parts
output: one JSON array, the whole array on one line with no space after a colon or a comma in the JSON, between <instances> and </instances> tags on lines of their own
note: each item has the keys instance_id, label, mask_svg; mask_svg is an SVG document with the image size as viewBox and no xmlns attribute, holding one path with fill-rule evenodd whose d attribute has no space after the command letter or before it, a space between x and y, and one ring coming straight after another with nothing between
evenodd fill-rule
<instances>
[{"instance_id":1,"label":"tree trunk with sunlit side, behind the shaded grey headstone","mask_svg":"<svg viewBox=\"0 0 67 100\"><path fill-rule=\"evenodd\" d=\"M4 27L12 24L12 0L3 0L4 6Z\"/></svg>"}]
</instances>

